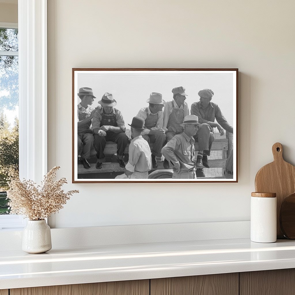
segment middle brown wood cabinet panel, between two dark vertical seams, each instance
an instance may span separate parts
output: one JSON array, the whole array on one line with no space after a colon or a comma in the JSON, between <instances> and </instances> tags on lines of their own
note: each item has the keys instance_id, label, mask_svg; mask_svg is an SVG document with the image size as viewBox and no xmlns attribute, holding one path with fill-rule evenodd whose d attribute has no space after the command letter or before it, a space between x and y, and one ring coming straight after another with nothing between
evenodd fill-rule
<instances>
[{"instance_id":1,"label":"middle brown wood cabinet panel, between two dark vertical seams","mask_svg":"<svg viewBox=\"0 0 295 295\"><path fill-rule=\"evenodd\" d=\"M151 280L151 295L238 295L238 273Z\"/></svg>"}]
</instances>

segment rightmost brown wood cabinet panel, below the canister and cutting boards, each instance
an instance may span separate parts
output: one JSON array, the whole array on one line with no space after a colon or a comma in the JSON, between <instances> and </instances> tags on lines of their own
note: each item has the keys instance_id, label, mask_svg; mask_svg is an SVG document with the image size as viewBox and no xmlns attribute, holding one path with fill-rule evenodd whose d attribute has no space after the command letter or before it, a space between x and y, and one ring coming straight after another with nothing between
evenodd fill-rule
<instances>
[{"instance_id":1,"label":"rightmost brown wood cabinet panel, below the canister and cutting boards","mask_svg":"<svg viewBox=\"0 0 295 295\"><path fill-rule=\"evenodd\" d=\"M295 269L240 273L240 295L295 294Z\"/></svg>"}]
</instances>

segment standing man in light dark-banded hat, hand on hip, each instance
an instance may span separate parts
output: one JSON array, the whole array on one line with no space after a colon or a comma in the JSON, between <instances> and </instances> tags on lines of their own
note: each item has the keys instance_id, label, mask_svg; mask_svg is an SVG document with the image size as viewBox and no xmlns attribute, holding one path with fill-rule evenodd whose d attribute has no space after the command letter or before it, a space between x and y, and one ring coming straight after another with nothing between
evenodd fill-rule
<instances>
[{"instance_id":1,"label":"standing man in light dark-banded hat, hand on hip","mask_svg":"<svg viewBox=\"0 0 295 295\"><path fill-rule=\"evenodd\" d=\"M184 117L181 134L175 135L162 148L162 154L173 165L172 178L193 179L195 175L195 140L193 136L201 126L198 117L188 115Z\"/></svg>"}]
</instances>

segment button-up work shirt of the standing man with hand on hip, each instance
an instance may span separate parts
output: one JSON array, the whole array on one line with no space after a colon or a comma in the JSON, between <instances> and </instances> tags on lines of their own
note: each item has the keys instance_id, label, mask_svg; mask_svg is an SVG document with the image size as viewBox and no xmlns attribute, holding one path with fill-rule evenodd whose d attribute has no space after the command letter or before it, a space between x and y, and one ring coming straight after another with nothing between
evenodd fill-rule
<instances>
[{"instance_id":1,"label":"button-up work shirt of the standing man with hand on hip","mask_svg":"<svg viewBox=\"0 0 295 295\"><path fill-rule=\"evenodd\" d=\"M175 135L163 148L162 154L168 162L174 165L173 170L177 172L194 171L195 140L185 132Z\"/></svg>"}]
</instances>

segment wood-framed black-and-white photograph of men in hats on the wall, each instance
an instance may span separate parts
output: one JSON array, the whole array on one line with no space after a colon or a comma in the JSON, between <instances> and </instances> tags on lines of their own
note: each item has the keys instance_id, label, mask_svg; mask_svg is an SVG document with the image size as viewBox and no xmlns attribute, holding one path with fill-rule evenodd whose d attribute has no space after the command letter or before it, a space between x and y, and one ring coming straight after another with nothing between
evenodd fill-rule
<instances>
[{"instance_id":1,"label":"wood-framed black-and-white photograph of men in hats on the wall","mask_svg":"<svg viewBox=\"0 0 295 295\"><path fill-rule=\"evenodd\" d=\"M73 68L73 183L237 182L238 69Z\"/></svg>"}]
</instances>

